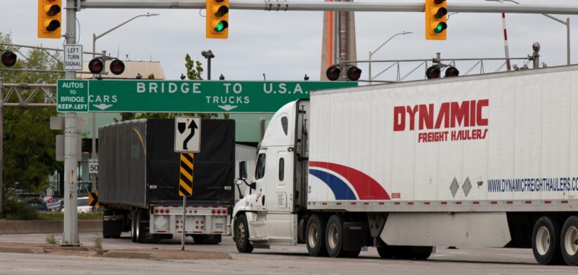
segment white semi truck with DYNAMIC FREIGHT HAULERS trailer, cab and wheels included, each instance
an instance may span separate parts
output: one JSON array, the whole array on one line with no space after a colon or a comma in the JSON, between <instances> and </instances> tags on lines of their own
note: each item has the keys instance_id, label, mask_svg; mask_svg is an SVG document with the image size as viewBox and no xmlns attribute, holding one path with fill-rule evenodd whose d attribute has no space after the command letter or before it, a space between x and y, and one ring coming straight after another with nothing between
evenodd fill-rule
<instances>
[{"instance_id":1,"label":"white semi truck with DYNAMIC FREIGHT HAULERS trailer, cab and wheels included","mask_svg":"<svg viewBox=\"0 0 578 275\"><path fill-rule=\"evenodd\" d=\"M314 92L274 114L251 177L240 252L514 247L577 265L578 66Z\"/></svg>"}]
</instances>

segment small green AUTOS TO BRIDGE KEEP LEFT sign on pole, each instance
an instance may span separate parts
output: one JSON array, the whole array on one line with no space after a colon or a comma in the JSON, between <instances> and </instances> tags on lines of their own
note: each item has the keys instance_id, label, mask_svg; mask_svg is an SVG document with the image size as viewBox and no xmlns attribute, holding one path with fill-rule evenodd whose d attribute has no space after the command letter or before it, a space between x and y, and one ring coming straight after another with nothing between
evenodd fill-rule
<instances>
[{"instance_id":1,"label":"small green AUTOS TO BRIDGE KEEP LEFT sign on pole","mask_svg":"<svg viewBox=\"0 0 578 275\"><path fill-rule=\"evenodd\" d=\"M58 112L89 112L89 81L56 81L56 109Z\"/></svg>"}]
</instances>

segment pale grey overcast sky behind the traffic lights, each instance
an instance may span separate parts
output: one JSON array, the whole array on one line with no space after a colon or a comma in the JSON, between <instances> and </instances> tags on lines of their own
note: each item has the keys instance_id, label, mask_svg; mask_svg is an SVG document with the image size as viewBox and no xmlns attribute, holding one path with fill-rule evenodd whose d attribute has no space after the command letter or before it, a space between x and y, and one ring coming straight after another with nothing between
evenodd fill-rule
<instances>
[{"instance_id":1,"label":"pale grey overcast sky behind the traffic lights","mask_svg":"<svg viewBox=\"0 0 578 275\"><path fill-rule=\"evenodd\" d=\"M231 0L235 1L235 0ZM312 0L319 1L319 0ZM454 3L456 0L449 0ZM575 0L518 0L522 4L575 6ZM363 2L379 2L364 0ZM386 3L423 3L423 1L385 0ZM483 0L463 0L459 3L496 4ZM63 39L37 38L37 1L1 0L10 13L0 17L0 32L11 33L13 43L49 48L62 48ZM512 5L506 2L506 5ZM96 42L98 52L107 51L130 60L160 61L167 79L179 79L186 73L184 56L191 55L205 65L201 51L211 50L212 78L224 74L226 80L299 81L304 74L319 80L321 74L321 11L229 11L229 39L205 39L204 10L198 9L84 9L77 13L79 44L91 51L92 34L101 34L136 15L160 13L159 16L137 18L116 29ZM451 14L451 11L449 11ZM578 16L555 15L570 18L571 45L578 45ZM64 18L64 16L63 16ZM65 22L64 22L65 24ZM500 13L456 13L448 21L446 41L428 41L424 35L423 13L357 12L357 60L367 60L368 52L375 51L393 34L402 31L413 34L394 37L373 54L373 60L430 59L435 53L442 58L503 58L503 30ZM510 57L532 54L532 43L541 44L541 62L548 67L566 64L566 26L539 14L506 14ZM25 53L25 51L23 52ZM84 55L88 61L91 55ZM578 52L572 53L571 62L578 61ZM477 61L475 61L477 62ZM456 67L464 74L475 62L458 61ZM502 62L484 62L484 72L494 72ZM373 62L375 76L392 63ZM522 67L523 61L513 64ZM402 76L419 63L402 63ZM529 64L531 67L531 64ZM359 63L361 79L368 77L368 64ZM423 78L420 67L406 80ZM470 74L480 72L474 67ZM380 81L396 79L397 72L389 69L376 77ZM206 67L203 77L206 79Z\"/></svg>"}]
</instances>

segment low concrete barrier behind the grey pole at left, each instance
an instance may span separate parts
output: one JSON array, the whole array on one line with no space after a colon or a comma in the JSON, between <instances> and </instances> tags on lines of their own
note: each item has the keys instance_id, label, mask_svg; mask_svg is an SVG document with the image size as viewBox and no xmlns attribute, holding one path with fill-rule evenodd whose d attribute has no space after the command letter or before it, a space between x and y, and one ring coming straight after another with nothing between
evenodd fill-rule
<instances>
[{"instance_id":1,"label":"low concrete barrier behind the grey pole at left","mask_svg":"<svg viewBox=\"0 0 578 275\"><path fill-rule=\"evenodd\" d=\"M63 220L0 220L0 234L62 233L63 225ZM103 232L103 221L78 220L78 232Z\"/></svg>"}]
</instances>

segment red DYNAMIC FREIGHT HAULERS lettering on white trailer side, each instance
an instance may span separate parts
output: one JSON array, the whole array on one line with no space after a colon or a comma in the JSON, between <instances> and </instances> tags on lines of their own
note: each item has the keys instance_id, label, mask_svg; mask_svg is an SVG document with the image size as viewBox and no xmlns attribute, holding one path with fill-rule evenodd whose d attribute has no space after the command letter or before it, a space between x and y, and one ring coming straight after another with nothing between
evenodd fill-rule
<instances>
[{"instance_id":1,"label":"red DYNAMIC FREIGHT HAULERS lettering on white trailer side","mask_svg":"<svg viewBox=\"0 0 578 275\"><path fill-rule=\"evenodd\" d=\"M484 140L488 133L488 119L484 116L484 109L488 106L487 99L443 102L439 108L435 108L433 103L396 106L393 108L393 130L416 130L416 124L418 130L477 127L418 133L418 142Z\"/></svg>"}]
</instances>

